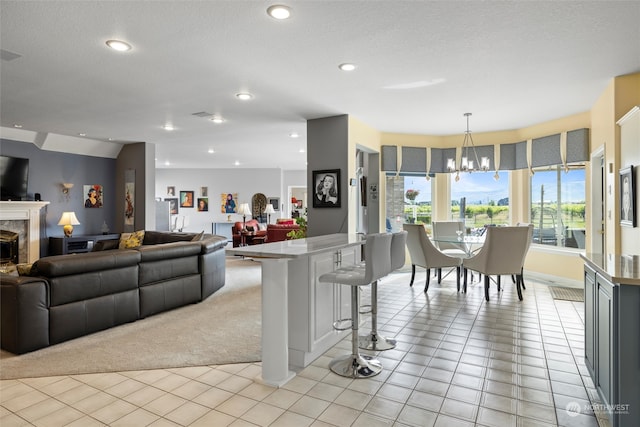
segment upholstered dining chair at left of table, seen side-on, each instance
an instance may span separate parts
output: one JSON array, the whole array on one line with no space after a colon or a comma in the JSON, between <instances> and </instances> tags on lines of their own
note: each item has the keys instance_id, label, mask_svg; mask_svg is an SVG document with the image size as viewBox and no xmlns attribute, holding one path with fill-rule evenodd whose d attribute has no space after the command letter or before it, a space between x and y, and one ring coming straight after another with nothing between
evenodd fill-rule
<instances>
[{"instance_id":1,"label":"upholstered dining chair at left of table, seen side-on","mask_svg":"<svg viewBox=\"0 0 640 427\"><path fill-rule=\"evenodd\" d=\"M432 268L455 267L456 285L459 292L462 258L449 256L440 252L440 250L433 245L422 225L403 224L402 227L407 231L407 249L409 249L409 257L411 257L411 283L409 283L409 286L413 286L413 280L416 276L416 266L427 269L427 280L424 285L425 292L429 289ZM440 283L440 276L438 276L438 283Z\"/></svg>"}]
</instances>

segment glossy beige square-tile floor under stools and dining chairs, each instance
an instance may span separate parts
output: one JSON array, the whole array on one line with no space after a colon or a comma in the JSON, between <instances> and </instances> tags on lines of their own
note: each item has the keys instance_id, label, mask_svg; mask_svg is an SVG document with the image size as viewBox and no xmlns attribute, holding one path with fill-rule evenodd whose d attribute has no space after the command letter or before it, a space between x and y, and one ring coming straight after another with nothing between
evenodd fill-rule
<instances>
[{"instance_id":1,"label":"glossy beige square-tile floor under stools and dining chairs","mask_svg":"<svg viewBox=\"0 0 640 427\"><path fill-rule=\"evenodd\" d=\"M599 399L583 363L583 303L553 300L533 279L519 302L508 277L490 303L481 284L458 294L452 278L425 295L424 277L379 285L381 331L398 345L378 354L374 378L328 370L347 337L279 389L253 380L255 363L2 381L0 425L609 425L589 409Z\"/></svg>"}]
</instances>

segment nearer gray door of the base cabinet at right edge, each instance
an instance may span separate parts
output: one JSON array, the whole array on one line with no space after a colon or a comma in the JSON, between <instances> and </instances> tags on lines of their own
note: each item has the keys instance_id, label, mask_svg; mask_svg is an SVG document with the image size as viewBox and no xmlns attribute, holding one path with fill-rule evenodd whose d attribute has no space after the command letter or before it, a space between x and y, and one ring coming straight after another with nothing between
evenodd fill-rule
<instances>
[{"instance_id":1,"label":"nearer gray door of the base cabinet at right edge","mask_svg":"<svg viewBox=\"0 0 640 427\"><path fill-rule=\"evenodd\" d=\"M615 402L614 375L614 287L596 275L597 322L596 322L596 387L605 404Z\"/></svg>"}]
</instances>

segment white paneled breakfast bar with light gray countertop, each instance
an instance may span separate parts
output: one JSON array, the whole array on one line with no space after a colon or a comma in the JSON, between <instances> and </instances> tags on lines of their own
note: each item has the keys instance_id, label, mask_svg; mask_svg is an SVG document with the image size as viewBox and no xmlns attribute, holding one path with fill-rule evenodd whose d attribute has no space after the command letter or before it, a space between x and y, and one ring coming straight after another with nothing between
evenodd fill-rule
<instances>
[{"instance_id":1,"label":"white paneled breakfast bar with light gray countertop","mask_svg":"<svg viewBox=\"0 0 640 427\"><path fill-rule=\"evenodd\" d=\"M229 248L262 266L262 381L280 387L342 339L334 317L349 317L349 289L320 275L360 261L364 239L330 234Z\"/></svg>"}]
</instances>

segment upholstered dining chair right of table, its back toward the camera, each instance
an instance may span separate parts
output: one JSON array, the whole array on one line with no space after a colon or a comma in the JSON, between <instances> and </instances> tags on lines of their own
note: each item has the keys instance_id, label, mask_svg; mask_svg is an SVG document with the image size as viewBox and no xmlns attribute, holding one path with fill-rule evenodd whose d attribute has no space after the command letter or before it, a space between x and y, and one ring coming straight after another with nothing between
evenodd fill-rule
<instances>
[{"instance_id":1,"label":"upholstered dining chair right of table, its back toward the camera","mask_svg":"<svg viewBox=\"0 0 640 427\"><path fill-rule=\"evenodd\" d=\"M488 227L482 248L462 266L484 274L484 296L489 301L490 276L514 275L518 298L522 301L522 266L529 248L529 228Z\"/></svg>"}]
</instances>

